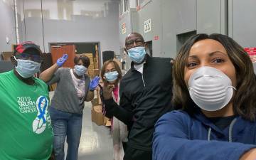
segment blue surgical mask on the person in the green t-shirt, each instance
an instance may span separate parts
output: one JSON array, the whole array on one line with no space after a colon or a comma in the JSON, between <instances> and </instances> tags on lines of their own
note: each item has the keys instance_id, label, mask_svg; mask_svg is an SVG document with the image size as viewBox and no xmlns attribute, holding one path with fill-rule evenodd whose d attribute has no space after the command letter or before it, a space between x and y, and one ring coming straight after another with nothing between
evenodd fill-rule
<instances>
[{"instance_id":1,"label":"blue surgical mask on the person in the green t-shirt","mask_svg":"<svg viewBox=\"0 0 256 160\"><path fill-rule=\"evenodd\" d=\"M14 59L17 61L16 71L23 78L30 78L40 71L41 63L36 63L33 60L16 59L15 57Z\"/></svg>"}]
</instances>

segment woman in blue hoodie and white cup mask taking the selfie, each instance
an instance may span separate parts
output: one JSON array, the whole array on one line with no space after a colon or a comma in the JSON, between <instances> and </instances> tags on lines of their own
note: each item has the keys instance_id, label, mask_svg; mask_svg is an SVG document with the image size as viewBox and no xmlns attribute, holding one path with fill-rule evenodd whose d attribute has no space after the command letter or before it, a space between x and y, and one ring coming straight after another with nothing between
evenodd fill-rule
<instances>
[{"instance_id":1,"label":"woman in blue hoodie and white cup mask taking the selfie","mask_svg":"<svg viewBox=\"0 0 256 160\"><path fill-rule=\"evenodd\" d=\"M198 34L174 64L175 107L156 123L154 160L256 159L256 78L232 38Z\"/></svg>"}]
</instances>

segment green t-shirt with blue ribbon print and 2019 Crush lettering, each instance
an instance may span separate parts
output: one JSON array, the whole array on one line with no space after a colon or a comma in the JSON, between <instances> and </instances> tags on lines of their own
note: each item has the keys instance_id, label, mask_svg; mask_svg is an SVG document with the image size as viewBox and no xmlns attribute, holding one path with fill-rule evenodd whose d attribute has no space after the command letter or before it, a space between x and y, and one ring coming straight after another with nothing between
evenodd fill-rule
<instances>
[{"instance_id":1,"label":"green t-shirt with blue ribbon print and 2019 Crush lettering","mask_svg":"<svg viewBox=\"0 0 256 160\"><path fill-rule=\"evenodd\" d=\"M47 160L53 149L47 85L0 74L0 159Z\"/></svg>"}]
</instances>

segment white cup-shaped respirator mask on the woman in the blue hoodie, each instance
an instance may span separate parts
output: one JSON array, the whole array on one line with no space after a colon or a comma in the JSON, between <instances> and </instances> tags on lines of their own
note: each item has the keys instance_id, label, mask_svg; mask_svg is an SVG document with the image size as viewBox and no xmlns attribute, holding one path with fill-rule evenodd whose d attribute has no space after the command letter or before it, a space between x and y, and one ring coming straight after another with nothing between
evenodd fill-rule
<instances>
[{"instance_id":1,"label":"white cup-shaped respirator mask on the woman in the blue hoodie","mask_svg":"<svg viewBox=\"0 0 256 160\"><path fill-rule=\"evenodd\" d=\"M188 80L188 91L193 102L202 110L220 110L233 97L232 82L225 73L216 68L198 68Z\"/></svg>"}]
</instances>

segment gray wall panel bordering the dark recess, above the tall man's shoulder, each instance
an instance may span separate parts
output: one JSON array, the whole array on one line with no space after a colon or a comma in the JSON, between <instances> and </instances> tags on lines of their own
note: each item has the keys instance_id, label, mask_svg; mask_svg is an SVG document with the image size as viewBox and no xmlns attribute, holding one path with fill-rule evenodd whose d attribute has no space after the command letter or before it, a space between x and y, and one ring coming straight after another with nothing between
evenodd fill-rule
<instances>
[{"instance_id":1,"label":"gray wall panel bordering the dark recess, above the tall man's shoulder","mask_svg":"<svg viewBox=\"0 0 256 160\"><path fill-rule=\"evenodd\" d=\"M176 57L176 35L196 30L196 0L162 0L162 57Z\"/></svg>"}]
</instances>

